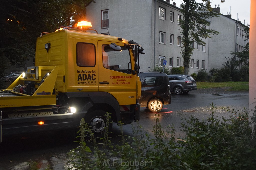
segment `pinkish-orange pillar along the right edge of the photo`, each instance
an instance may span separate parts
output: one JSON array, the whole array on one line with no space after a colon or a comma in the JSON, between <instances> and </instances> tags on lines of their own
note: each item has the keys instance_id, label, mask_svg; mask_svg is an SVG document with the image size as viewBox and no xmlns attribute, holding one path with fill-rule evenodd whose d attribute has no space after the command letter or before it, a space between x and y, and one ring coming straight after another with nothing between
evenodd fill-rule
<instances>
[{"instance_id":1,"label":"pinkish-orange pillar along the right edge of the photo","mask_svg":"<svg viewBox=\"0 0 256 170\"><path fill-rule=\"evenodd\" d=\"M256 105L256 1L251 0L250 50L249 50L249 113Z\"/></svg>"}]
</instances>

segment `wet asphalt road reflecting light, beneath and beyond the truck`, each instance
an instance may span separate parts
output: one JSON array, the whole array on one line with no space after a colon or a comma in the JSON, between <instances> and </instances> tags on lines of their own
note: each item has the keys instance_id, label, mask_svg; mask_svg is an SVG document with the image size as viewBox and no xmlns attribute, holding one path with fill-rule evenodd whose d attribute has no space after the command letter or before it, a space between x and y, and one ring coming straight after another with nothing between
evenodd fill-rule
<instances>
[{"instance_id":1,"label":"wet asphalt road reflecting light, beneath and beyond the truck","mask_svg":"<svg viewBox=\"0 0 256 170\"><path fill-rule=\"evenodd\" d=\"M242 111L248 108L248 93L199 93L191 91L188 94L172 95L172 103L164 105L159 120L163 127L175 125L176 138L184 137L180 131L181 116L193 115L199 119L206 118L211 114L209 104L214 103L217 107L215 115L228 116L229 113L221 110L221 107L230 107ZM140 124L151 133L154 126L155 113L150 113L145 107L141 108ZM133 123L133 125L136 125ZM124 134L132 136L132 125L123 126ZM120 140L120 127L113 125L112 137L114 143ZM78 146L71 132L47 132L42 134L28 134L9 136L3 138L0 144L0 169L29 169L28 162L35 161L39 169L66 169L67 153Z\"/></svg>"}]
</instances>

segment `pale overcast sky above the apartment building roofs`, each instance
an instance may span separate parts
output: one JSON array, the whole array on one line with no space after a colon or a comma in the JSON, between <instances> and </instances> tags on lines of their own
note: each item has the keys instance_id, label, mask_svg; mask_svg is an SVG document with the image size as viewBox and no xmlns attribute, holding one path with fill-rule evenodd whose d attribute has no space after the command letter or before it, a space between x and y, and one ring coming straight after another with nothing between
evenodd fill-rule
<instances>
[{"instance_id":1,"label":"pale overcast sky above the apartment building roofs","mask_svg":"<svg viewBox=\"0 0 256 170\"><path fill-rule=\"evenodd\" d=\"M166 0L165 0L166 1ZM197 0L198 2L202 2L200 0ZM176 6L179 7L180 4L182 4L182 0L170 0L170 3L176 2ZM250 6L251 6L251 0L225 0L224 3L220 3L220 0L213 0L211 1L212 8L215 8L215 5L217 7L220 5L220 13L223 15L227 15L227 12L229 14L230 7L231 7L231 15L232 19L237 20L237 13L238 13L238 19L241 21L241 23L245 25L250 24Z\"/></svg>"}]
</instances>

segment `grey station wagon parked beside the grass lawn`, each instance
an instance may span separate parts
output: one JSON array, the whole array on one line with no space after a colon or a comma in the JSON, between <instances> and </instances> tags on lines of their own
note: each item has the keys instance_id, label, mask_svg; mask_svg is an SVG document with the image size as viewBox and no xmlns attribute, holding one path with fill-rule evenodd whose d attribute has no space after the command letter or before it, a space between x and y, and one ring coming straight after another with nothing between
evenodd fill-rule
<instances>
[{"instance_id":1,"label":"grey station wagon parked beside the grass lawn","mask_svg":"<svg viewBox=\"0 0 256 170\"><path fill-rule=\"evenodd\" d=\"M167 76L170 82L170 90L175 94L188 93L197 89L196 81L190 75L173 74Z\"/></svg>"}]
</instances>

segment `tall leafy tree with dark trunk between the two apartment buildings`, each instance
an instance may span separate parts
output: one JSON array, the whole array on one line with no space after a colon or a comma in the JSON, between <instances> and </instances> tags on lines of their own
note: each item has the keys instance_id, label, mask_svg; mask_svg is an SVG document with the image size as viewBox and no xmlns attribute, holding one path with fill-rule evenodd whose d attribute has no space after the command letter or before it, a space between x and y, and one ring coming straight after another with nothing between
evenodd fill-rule
<instances>
[{"instance_id":1,"label":"tall leafy tree with dark trunk between the two apartment buildings","mask_svg":"<svg viewBox=\"0 0 256 170\"><path fill-rule=\"evenodd\" d=\"M221 0L223 3L225 0ZM180 7L180 12L183 14L183 19L179 19L180 27L182 28L182 57L184 59L184 74L189 74L189 62L193 55L193 42L199 45L205 45L204 39L211 38L211 35L220 34L211 29L206 29L200 25L209 26L210 22L206 19L217 17L218 13L211 8L211 0L202 0L198 3L196 0L183 0L184 4Z\"/></svg>"}]
</instances>

